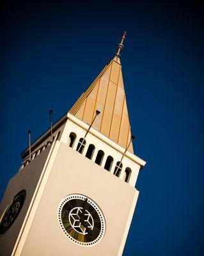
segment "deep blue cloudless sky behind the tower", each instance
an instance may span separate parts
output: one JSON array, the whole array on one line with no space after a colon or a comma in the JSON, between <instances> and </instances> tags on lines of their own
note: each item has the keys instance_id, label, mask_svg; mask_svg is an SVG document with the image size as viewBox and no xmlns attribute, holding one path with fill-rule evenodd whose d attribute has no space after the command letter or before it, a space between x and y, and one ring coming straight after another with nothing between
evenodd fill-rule
<instances>
[{"instance_id":1,"label":"deep blue cloudless sky behind the tower","mask_svg":"<svg viewBox=\"0 0 204 256\"><path fill-rule=\"evenodd\" d=\"M203 17L201 1L3 1L0 196L28 129L34 141L49 109L54 121L68 111L127 30L123 80L147 164L123 256L203 255Z\"/></svg>"}]
</instances>

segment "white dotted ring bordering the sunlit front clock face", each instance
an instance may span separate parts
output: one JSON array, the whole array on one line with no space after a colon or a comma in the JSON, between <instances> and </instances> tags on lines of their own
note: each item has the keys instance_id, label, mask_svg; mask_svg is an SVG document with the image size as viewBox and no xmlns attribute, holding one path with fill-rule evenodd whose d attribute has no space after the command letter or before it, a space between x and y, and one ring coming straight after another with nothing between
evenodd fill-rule
<instances>
[{"instance_id":1,"label":"white dotted ring bordering the sunlit front clock face","mask_svg":"<svg viewBox=\"0 0 204 256\"><path fill-rule=\"evenodd\" d=\"M91 200L90 198L88 198L88 203L91 204L93 206L93 208L95 209L95 211L97 211L98 216L100 218L100 222L101 222L101 229L100 229L100 234L98 235L97 239L95 239L92 242L89 243L82 243L80 241L75 240L72 236L70 236L70 234L68 234L67 230L65 230L64 226L63 226L63 222L61 221L61 211L63 209L63 206L72 199L81 199L81 200L85 200L86 198L88 198L88 196L84 196L84 195L80 195L80 194L72 194L72 195L68 195L65 198L63 198L63 200L61 200L59 207L58 207L58 221L59 221L59 225L61 227L61 229L63 230L63 232L65 233L65 235L74 243L79 244L81 246L95 246L97 243L100 242L100 240L102 240L102 238L104 237L105 231L106 231L106 221L104 218L104 215L102 214L102 211L100 210L100 208L98 207L97 204L95 204L95 202L93 202L93 200Z\"/></svg>"}]
</instances>

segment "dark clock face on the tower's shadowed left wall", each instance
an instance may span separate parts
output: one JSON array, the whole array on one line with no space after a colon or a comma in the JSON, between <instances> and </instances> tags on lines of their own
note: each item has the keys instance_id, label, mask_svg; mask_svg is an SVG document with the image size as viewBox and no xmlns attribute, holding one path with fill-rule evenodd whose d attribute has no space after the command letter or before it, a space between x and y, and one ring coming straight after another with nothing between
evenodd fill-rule
<instances>
[{"instance_id":1,"label":"dark clock face on the tower's shadowed left wall","mask_svg":"<svg viewBox=\"0 0 204 256\"><path fill-rule=\"evenodd\" d=\"M26 198L26 190L22 190L14 196L13 201L7 206L0 223L0 234L4 234L19 215Z\"/></svg>"}]
</instances>

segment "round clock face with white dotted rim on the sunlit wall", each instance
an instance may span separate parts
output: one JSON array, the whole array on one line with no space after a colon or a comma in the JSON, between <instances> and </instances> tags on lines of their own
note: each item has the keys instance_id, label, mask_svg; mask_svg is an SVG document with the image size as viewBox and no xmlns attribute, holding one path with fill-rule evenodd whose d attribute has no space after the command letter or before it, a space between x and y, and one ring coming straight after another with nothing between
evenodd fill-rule
<instances>
[{"instance_id":1,"label":"round clock face with white dotted rim on the sunlit wall","mask_svg":"<svg viewBox=\"0 0 204 256\"><path fill-rule=\"evenodd\" d=\"M59 204L59 224L66 236L82 246L93 246L104 236L106 223L99 207L84 195L68 195Z\"/></svg>"}]
</instances>

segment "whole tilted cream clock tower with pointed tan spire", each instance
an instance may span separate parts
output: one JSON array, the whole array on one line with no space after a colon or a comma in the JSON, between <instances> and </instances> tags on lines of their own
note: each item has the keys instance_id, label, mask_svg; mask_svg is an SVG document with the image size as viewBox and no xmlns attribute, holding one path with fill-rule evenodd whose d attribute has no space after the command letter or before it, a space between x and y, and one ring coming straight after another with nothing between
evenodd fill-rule
<instances>
[{"instance_id":1,"label":"whole tilted cream clock tower with pointed tan spire","mask_svg":"<svg viewBox=\"0 0 204 256\"><path fill-rule=\"evenodd\" d=\"M22 152L0 207L1 256L119 256L145 161L134 154L120 51Z\"/></svg>"}]
</instances>

